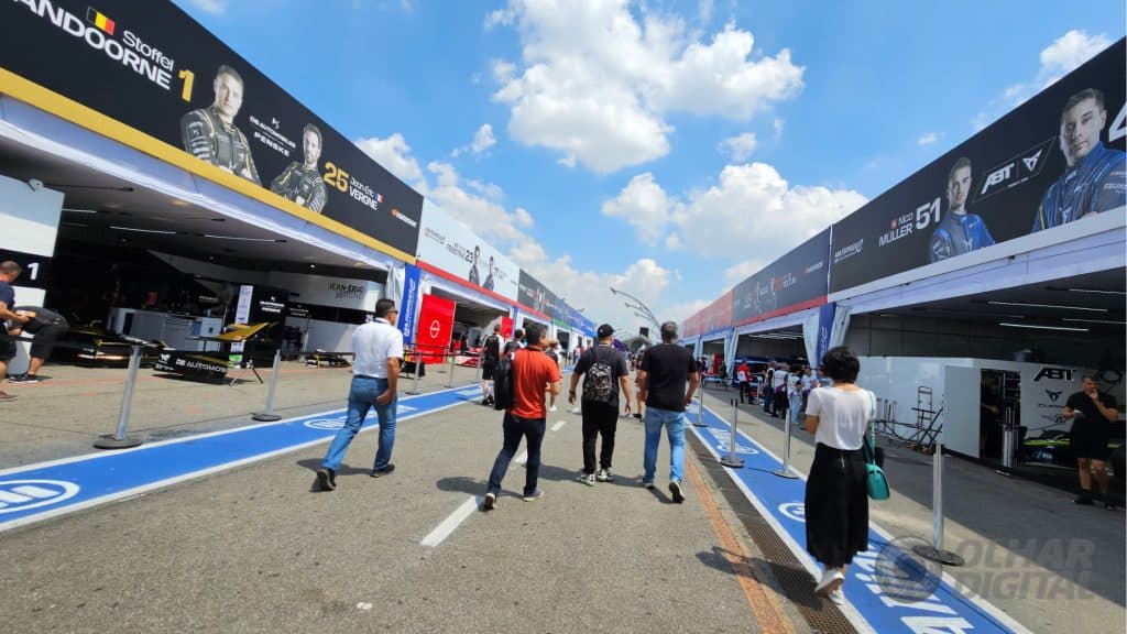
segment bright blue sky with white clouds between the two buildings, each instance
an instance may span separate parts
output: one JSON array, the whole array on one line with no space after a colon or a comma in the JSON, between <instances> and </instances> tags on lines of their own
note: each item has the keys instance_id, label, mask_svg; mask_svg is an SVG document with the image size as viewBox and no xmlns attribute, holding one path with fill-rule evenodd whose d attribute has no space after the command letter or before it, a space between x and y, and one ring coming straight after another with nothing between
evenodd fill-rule
<instances>
[{"instance_id":1,"label":"bright blue sky with white clouds between the two buildings","mask_svg":"<svg viewBox=\"0 0 1127 634\"><path fill-rule=\"evenodd\" d=\"M598 322L681 319L1124 36L1117 0L178 0Z\"/></svg>"}]
</instances>

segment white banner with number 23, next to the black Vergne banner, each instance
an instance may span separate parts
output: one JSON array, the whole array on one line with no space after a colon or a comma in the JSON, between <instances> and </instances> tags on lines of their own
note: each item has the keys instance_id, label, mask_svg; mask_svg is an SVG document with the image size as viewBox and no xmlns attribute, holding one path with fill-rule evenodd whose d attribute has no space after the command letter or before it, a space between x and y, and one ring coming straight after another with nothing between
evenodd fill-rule
<instances>
[{"instance_id":1,"label":"white banner with number 23, next to the black Vergne banner","mask_svg":"<svg viewBox=\"0 0 1127 634\"><path fill-rule=\"evenodd\" d=\"M423 203L419 259L477 288L517 300L521 267L431 201Z\"/></svg>"}]
</instances>

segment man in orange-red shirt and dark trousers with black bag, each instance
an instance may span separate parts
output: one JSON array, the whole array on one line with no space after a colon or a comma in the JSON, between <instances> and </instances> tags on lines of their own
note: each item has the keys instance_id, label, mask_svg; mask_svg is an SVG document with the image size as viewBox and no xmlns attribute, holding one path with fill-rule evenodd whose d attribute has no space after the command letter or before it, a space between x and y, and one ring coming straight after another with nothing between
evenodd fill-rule
<instances>
[{"instance_id":1,"label":"man in orange-red shirt and dark trousers with black bag","mask_svg":"<svg viewBox=\"0 0 1127 634\"><path fill-rule=\"evenodd\" d=\"M497 508L500 481L508 472L508 464L521 446L522 438L529 440L524 501L532 502L544 494L536 487L536 478L540 476L540 444L544 440L544 419L548 416L544 393L550 393L553 397L559 395L560 371L556 362L544 354L548 333L543 326L530 325L525 329L525 337L527 345L513 354L513 406L505 411L505 442L489 474L489 488L482 504L485 511Z\"/></svg>"}]
</instances>

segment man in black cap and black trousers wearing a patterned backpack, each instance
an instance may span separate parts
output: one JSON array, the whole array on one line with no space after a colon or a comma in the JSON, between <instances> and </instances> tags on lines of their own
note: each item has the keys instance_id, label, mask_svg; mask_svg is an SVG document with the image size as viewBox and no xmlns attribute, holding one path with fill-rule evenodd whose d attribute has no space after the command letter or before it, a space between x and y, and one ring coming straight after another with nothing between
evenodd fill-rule
<instances>
[{"instance_id":1,"label":"man in black cap and black trousers wearing a patterned backpack","mask_svg":"<svg viewBox=\"0 0 1127 634\"><path fill-rule=\"evenodd\" d=\"M619 393L625 399L630 414L630 384L627 377L627 358L614 350L614 328L610 324L598 327L598 345L579 358L571 373L568 402L575 405L575 390L583 381L583 474L579 482L595 486L595 482L611 482L611 457L614 455L614 433L619 425ZM598 474L595 474L595 443L603 437L603 451L598 455Z\"/></svg>"}]
</instances>

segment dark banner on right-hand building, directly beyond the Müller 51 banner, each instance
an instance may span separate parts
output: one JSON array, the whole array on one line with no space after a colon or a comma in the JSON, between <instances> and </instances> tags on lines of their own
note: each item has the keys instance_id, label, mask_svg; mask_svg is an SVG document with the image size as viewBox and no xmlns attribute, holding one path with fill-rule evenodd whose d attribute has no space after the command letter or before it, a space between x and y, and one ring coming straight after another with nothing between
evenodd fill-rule
<instances>
[{"instance_id":1,"label":"dark banner on right-hand building, directly beyond the M\u00fcller 51 banner","mask_svg":"<svg viewBox=\"0 0 1127 634\"><path fill-rule=\"evenodd\" d=\"M733 323L743 326L825 303L828 257L826 229L736 284Z\"/></svg>"}]
</instances>

